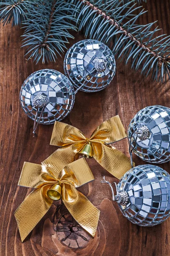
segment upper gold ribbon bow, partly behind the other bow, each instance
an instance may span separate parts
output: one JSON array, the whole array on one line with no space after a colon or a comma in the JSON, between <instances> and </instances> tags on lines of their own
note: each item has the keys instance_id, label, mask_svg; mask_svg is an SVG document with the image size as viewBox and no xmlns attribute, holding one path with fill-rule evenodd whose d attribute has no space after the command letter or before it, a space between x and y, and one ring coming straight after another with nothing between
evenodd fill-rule
<instances>
[{"instance_id":1,"label":"upper gold ribbon bow, partly behind the other bow","mask_svg":"<svg viewBox=\"0 0 170 256\"><path fill-rule=\"evenodd\" d=\"M92 155L96 161L108 172L120 179L125 172L131 169L130 159L118 149L107 144L126 137L127 135L119 116L114 116L99 125L90 138L86 138L79 129L56 121L50 144L63 148L59 148L48 158L51 161L55 161L64 156L65 159L74 161L79 158L78 153L83 146L90 142Z\"/></svg>"}]
</instances>

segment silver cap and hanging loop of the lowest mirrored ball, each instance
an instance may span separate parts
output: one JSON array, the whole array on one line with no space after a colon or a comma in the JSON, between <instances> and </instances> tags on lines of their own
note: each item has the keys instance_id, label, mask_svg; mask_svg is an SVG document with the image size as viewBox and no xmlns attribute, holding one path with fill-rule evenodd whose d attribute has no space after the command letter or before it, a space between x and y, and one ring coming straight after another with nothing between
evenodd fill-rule
<instances>
[{"instance_id":1,"label":"silver cap and hanging loop of the lowest mirrored ball","mask_svg":"<svg viewBox=\"0 0 170 256\"><path fill-rule=\"evenodd\" d=\"M116 182L113 182L111 184L109 181L105 180L105 176L104 176L101 183L107 183L111 187L113 201L116 201L118 204L121 204L121 205L124 205L124 206L128 203L128 198L129 197L127 195L127 192L124 191L124 190L118 190ZM112 186L113 184L116 187L116 195L114 195L114 190L113 190L113 186Z\"/></svg>"}]
</instances>

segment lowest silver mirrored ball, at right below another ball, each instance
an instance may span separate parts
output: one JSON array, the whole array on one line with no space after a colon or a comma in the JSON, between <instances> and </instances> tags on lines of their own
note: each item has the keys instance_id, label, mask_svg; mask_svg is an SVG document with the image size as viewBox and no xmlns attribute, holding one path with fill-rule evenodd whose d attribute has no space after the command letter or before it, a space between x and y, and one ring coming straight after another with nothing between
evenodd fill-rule
<instances>
[{"instance_id":1,"label":"lowest silver mirrored ball, at right below another ball","mask_svg":"<svg viewBox=\"0 0 170 256\"><path fill-rule=\"evenodd\" d=\"M115 201L132 223L159 224L170 216L170 175L158 166L134 167L119 181Z\"/></svg>"}]
</instances>

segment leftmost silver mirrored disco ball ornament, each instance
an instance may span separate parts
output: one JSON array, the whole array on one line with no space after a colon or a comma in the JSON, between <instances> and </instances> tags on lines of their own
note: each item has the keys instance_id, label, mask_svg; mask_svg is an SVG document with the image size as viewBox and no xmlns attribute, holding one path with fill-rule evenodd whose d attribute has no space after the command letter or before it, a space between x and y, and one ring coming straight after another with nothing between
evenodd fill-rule
<instances>
[{"instance_id":1,"label":"leftmost silver mirrored disco ball ornament","mask_svg":"<svg viewBox=\"0 0 170 256\"><path fill-rule=\"evenodd\" d=\"M36 117L37 122L40 119L40 123L45 125L65 118L73 108L74 100L74 87L69 79L52 69L32 73L20 90L20 102L25 113L33 120Z\"/></svg>"}]
</instances>

